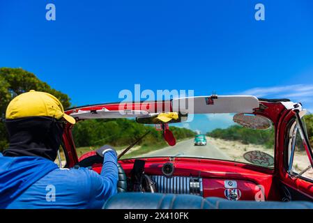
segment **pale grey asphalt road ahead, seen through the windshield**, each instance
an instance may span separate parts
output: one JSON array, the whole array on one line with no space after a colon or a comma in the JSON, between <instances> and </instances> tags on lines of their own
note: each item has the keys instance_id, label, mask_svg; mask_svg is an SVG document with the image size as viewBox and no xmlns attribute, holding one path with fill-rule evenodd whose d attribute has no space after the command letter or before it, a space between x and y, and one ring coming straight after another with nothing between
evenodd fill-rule
<instances>
[{"instance_id":1,"label":"pale grey asphalt road ahead, seen through the windshield","mask_svg":"<svg viewBox=\"0 0 313 223\"><path fill-rule=\"evenodd\" d=\"M209 157L219 160L231 160L227 154L211 144L208 139L206 139L206 146L194 146L194 139L188 139L178 142L175 146L167 146L158 151L153 151L140 156Z\"/></svg>"}]
</instances>

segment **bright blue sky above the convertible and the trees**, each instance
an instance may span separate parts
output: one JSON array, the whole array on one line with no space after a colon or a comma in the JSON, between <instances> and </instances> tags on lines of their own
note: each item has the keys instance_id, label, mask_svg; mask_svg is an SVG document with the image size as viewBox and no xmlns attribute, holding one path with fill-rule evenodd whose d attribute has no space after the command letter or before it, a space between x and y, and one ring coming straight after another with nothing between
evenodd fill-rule
<instances>
[{"instance_id":1,"label":"bright blue sky above the convertible and the trees","mask_svg":"<svg viewBox=\"0 0 313 223\"><path fill-rule=\"evenodd\" d=\"M0 67L35 73L73 105L115 102L141 84L291 98L313 111L310 0L0 0L0 32Z\"/></svg>"}]
</instances>

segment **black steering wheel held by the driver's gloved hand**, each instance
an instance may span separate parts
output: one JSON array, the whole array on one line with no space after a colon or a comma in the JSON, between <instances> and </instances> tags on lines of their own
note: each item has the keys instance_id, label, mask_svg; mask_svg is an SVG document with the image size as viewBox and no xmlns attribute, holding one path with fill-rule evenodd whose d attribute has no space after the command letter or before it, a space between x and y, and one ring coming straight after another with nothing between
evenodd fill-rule
<instances>
[{"instance_id":1,"label":"black steering wheel held by the driver's gloved hand","mask_svg":"<svg viewBox=\"0 0 313 223\"><path fill-rule=\"evenodd\" d=\"M91 155L89 157L86 157L84 160L81 160L77 163L77 166L79 167L91 167L93 164L102 164L103 163L103 157L100 157L100 155ZM117 183L117 192L126 192L127 191L127 177L125 174L125 171L123 170L123 167L119 162L117 163L117 169L119 172L119 181Z\"/></svg>"}]
</instances>

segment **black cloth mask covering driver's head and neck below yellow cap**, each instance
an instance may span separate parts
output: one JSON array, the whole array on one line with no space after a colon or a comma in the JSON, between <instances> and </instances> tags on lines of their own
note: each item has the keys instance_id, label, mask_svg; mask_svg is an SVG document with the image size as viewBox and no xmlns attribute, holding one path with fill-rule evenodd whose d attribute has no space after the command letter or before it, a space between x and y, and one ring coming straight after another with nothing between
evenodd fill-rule
<instances>
[{"instance_id":1,"label":"black cloth mask covering driver's head and neck below yellow cap","mask_svg":"<svg viewBox=\"0 0 313 223\"><path fill-rule=\"evenodd\" d=\"M54 161L61 145L63 125L55 118L33 116L7 119L10 145L3 155L38 156Z\"/></svg>"}]
</instances>

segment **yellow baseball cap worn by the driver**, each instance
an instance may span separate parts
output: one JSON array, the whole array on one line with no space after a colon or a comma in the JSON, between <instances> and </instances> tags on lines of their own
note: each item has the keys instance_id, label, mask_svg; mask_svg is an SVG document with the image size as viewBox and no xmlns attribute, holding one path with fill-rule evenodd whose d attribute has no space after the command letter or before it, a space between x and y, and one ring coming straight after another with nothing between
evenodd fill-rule
<instances>
[{"instance_id":1,"label":"yellow baseball cap worn by the driver","mask_svg":"<svg viewBox=\"0 0 313 223\"><path fill-rule=\"evenodd\" d=\"M68 123L75 124L75 118L64 113L61 102L49 93L31 90L13 98L6 109L6 118L25 118L31 116L49 116L64 118Z\"/></svg>"}]
</instances>

